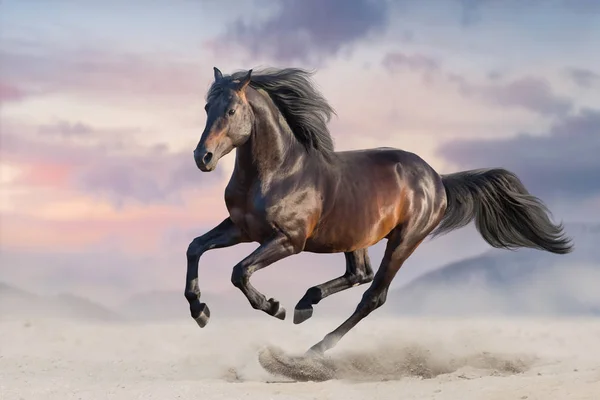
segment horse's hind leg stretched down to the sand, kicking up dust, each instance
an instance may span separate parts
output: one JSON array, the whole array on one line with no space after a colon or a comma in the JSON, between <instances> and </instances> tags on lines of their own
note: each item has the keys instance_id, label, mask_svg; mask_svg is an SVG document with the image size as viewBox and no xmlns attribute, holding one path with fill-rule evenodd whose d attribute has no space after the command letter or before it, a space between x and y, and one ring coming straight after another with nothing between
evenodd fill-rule
<instances>
[{"instance_id":1,"label":"horse's hind leg stretched down to the sand, kicking up dust","mask_svg":"<svg viewBox=\"0 0 600 400\"><path fill-rule=\"evenodd\" d=\"M396 228L388 240L381 265L375 274L373 283L364 293L356 311L323 340L310 348L308 353L322 354L333 348L337 342L354 328L363 318L385 303L388 288L402 264L425 239L429 232L415 235L407 234L402 227Z\"/></svg>"}]
</instances>

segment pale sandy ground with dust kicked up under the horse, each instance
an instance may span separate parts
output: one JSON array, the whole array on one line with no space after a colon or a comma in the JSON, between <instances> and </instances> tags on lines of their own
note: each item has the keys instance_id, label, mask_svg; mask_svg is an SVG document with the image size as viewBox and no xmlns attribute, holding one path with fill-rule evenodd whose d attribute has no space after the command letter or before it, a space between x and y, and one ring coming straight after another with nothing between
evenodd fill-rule
<instances>
[{"instance_id":1,"label":"pale sandy ground with dust kicked up under the horse","mask_svg":"<svg viewBox=\"0 0 600 400\"><path fill-rule=\"evenodd\" d=\"M259 365L265 345L301 353L337 322L5 320L0 399L600 399L599 320L372 317L330 353L337 379Z\"/></svg>"}]
</instances>

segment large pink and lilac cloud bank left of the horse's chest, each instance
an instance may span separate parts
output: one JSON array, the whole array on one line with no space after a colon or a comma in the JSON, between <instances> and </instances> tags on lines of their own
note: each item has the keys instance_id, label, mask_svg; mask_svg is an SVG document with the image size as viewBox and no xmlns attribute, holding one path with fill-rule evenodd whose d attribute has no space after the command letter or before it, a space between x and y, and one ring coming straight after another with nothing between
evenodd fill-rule
<instances>
[{"instance_id":1,"label":"large pink and lilac cloud bank left of the horse's chest","mask_svg":"<svg viewBox=\"0 0 600 400\"><path fill-rule=\"evenodd\" d=\"M0 159L18 173L4 188L2 249L110 245L141 254L176 236L185 251L193 233L181 232L200 234L226 216L219 172L201 173L191 151L141 146L137 133L83 122L3 121Z\"/></svg>"}]
</instances>

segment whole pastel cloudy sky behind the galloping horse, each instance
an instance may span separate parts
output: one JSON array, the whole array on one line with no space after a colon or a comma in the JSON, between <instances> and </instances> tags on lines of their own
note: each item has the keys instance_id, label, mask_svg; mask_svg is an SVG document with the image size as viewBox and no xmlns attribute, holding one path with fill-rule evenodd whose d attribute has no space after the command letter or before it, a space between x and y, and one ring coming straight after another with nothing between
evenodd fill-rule
<instances>
[{"instance_id":1,"label":"whole pastel cloudy sky behind the galloping horse","mask_svg":"<svg viewBox=\"0 0 600 400\"><path fill-rule=\"evenodd\" d=\"M233 153L211 173L192 157L213 66L314 70L338 150L507 168L556 221L600 222L598 48L594 0L3 0L0 281L183 293L189 242L227 216ZM201 289L236 290L255 247L206 253ZM428 241L394 285L488 249L472 226ZM343 271L300 254L253 282L301 296Z\"/></svg>"}]
</instances>

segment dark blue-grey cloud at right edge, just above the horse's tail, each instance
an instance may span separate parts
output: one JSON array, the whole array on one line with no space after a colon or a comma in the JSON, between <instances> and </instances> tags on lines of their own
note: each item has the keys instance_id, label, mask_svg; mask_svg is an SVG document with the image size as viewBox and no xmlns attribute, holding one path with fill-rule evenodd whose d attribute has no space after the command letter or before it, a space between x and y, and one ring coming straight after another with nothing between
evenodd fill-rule
<instances>
[{"instance_id":1,"label":"dark blue-grey cloud at right edge, just above the horse's tail","mask_svg":"<svg viewBox=\"0 0 600 400\"><path fill-rule=\"evenodd\" d=\"M545 134L454 140L439 155L461 168L505 167L543 198L581 200L600 194L600 110L584 109Z\"/></svg>"}]
</instances>

